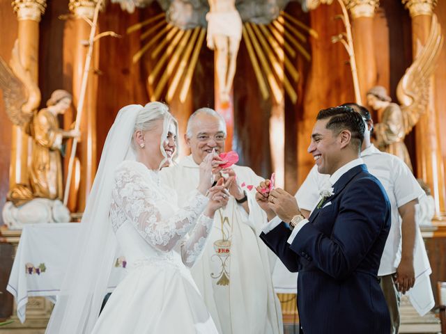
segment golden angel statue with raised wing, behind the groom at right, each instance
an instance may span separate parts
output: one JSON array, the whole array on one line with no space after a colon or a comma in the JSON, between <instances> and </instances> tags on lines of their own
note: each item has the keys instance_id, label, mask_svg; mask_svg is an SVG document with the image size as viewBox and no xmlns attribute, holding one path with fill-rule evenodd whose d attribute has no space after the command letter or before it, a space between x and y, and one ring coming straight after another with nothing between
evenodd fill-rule
<instances>
[{"instance_id":1,"label":"golden angel statue with raised wing, behind the groom at right","mask_svg":"<svg viewBox=\"0 0 446 334\"><path fill-rule=\"evenodd\" d=\"M376 145L380 150L403 159L411 170L412 164L404 138L412 131L429 104L430 78L442 46L441 26L436 15L433 15L426 44L424 47L417 47L415 61L397 86L399 104L392 102L382 86L375 86L367 92L367 103L381 113L381 122L375 125Z\"/></svg>"}]
</instances>

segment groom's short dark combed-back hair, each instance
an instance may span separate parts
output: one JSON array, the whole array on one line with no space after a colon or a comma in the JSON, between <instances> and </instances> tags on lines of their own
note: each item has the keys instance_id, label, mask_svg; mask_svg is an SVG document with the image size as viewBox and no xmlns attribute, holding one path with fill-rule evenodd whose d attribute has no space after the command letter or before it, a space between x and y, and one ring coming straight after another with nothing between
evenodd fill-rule
<instances>
[{"instance_id":1,"label":"groom's short dark combed-back hair","mask_svg":"<svg viewBox=\"0 0 446 334\"><path fill-rule=\"evenodd\" d=\"M362 141L364 141L365 125L360 113L354 111L350 106L333 106L332 108L322 109L319 111L316 120L328 120L326 129L332 130L335 134L339 134L342 130L347 129L351 133L351 142L361 149Z\"/></svg>"}]
</instances>

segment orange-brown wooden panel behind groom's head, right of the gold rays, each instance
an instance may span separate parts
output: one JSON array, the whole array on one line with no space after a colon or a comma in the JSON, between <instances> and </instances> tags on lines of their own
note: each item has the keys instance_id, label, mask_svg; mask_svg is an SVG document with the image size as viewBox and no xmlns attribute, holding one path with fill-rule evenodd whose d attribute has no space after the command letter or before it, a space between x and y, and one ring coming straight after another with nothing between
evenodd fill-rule
<instances>
[{"instance_id":1,"label":"orange-brown wooden panel behind groom's head, right of the gold rays","mask_svg":"<svg viewBox=\"0 0 446 334\"><path fill-rule=\"evenodd\" d=\"M354 101L353 80L348 54L340 44L332 44L332 35L345 31L340 20L334 16L341 14L336 1L331 6L319 6L309 13L311 26L318 33L312 38L312 63L305 86L302 118L298 122L298 183L301 184L314 165L307 148L316 115L319 110Z\"/></svg>"}]
</instances>

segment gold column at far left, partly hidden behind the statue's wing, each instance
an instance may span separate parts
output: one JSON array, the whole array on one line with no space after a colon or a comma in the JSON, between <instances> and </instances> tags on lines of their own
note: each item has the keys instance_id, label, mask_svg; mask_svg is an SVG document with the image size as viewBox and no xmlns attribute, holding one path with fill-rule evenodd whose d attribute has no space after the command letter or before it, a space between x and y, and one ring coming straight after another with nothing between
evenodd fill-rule
<instances>
[{"instance_id":1,"label":"gold column at far left, partly hidden behind the statue's wing","mask_svg":"<svg viewBox=\"0 0 446 334\"><path fill-rule=\"evenodd\" d=\"M39 58L39 22L45 13L46 0L13 0L12 6L18 20L18 47L20 62L24 70L31 73L31 77L38 82ZM29 185L28 164L31 139L22 127L13 125L11 138L11 161L9 171L9 187L15 184Z\"/></svg>"}]
</instances>

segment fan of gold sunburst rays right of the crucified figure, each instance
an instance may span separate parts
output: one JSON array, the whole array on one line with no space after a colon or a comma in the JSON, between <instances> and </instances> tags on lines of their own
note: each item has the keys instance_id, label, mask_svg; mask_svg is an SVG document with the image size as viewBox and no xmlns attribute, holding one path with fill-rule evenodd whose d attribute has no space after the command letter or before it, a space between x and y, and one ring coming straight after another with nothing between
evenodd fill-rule
<instances>
[{"instance_id":1,"label":"fan of gold sunburst rays right of the crucified figure","mask_svg":"<svg viewBox=\"0 0 446 334\"><path fill-rule=\"evenodd\" d=\"M291 102L297 102L295 84L300 75L291 59L300 54L310 61L311 56L302 45L307 42L305 33L317 38L316 31L284 12L268 25L243 24L243 40L263 99L271 92L275 102L281 102L283 86Z\"/></svg>"}]
</instances>

